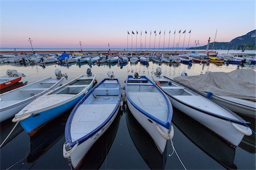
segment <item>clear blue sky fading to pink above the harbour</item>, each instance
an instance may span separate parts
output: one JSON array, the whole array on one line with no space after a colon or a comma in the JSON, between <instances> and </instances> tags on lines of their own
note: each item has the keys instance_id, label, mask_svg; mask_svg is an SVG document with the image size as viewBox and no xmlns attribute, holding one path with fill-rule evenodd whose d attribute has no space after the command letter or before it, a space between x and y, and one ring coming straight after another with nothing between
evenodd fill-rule
<instances>
[{"instance_id":1,"label":"clear blue sky fading to pink above the harbour","mask_svg":"<svg viewBox=\"0 0 256 170\"><path fill-rule=\"evenodd\" d=\"M127 31L139 32L137 48L154 45L153 32L156 29L156 46L170 47L179 40L182 47L186 29L185 47L188 46L189 30L191 39L200 45L214 40L216 29L218 42L227 42L255 29L255 2L245 1L1 1L0 47L30 47L31 37L35 48L127 48ZM241 11L242 9L242 11ZM133 48L136 35L133 35ZM131 34L129 35L131 48Z\"/></svg>"}]
</instances>

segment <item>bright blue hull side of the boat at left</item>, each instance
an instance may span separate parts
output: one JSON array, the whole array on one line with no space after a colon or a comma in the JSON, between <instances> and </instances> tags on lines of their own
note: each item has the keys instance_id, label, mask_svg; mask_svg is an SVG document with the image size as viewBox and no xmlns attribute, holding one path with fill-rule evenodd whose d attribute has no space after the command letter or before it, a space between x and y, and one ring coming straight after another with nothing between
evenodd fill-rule
<instances>
[{"instance_id":1,"label":"bright blue hull side of the boat at left","mask_svg":"<svg viewBox=\"0 0 256 170\"><path fill-rule=\"evenodd\" d=\"M57 107L47 109L46 111L32 114L30 117L20 121L22 128L30 135L34 135L38 129L42 128L48 121L59 116L61 113L73 108L84 94L71 101L65 102Z\"/></svg>"}]
</instances>

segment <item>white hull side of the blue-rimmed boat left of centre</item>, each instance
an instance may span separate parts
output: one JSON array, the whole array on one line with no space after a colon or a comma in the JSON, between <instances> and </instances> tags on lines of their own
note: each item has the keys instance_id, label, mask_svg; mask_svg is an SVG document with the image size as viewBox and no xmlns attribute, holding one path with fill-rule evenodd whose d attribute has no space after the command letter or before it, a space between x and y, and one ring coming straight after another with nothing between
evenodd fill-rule
<instances>
[{"instance_id":1,"label":"white hull side of the blue-rimmed boat left of centre","mask_svg":"<svg viewBox=\"0 0 256 170\"><path fill-rule=\"evenodd\" d=\"M101 137L102 134L105 133L105 131L109 128L109 126L114 121L115 117L117 116L117 113L119 111L119 107L117 107L117 110L115 111L112 118L110 118L109 122L105 124L105 126L102 126L102 128L92 137L87 139L85 142L80 143L76 147L76 149L71 154L71 164L72 166L77 169L81 165L82 159L86 155L86 153L89 151L90 147L93 146L93 144Z\"/></svg>"}]
</instances>

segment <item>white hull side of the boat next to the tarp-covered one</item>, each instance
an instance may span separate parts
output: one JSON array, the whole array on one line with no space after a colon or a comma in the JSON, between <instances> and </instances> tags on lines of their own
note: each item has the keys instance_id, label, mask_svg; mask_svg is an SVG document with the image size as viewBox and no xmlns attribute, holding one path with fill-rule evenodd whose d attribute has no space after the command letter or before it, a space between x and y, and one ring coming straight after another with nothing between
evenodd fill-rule
<instances>
[{"instance_id":1,"label":"white hull side of the boat next to the tarp-covered one","mask_svg":"<svg viewBox=\"0 0 256 170\"><path fill-rule=\"evenodd\" d=\"M224 138L233 146L238 146L242 141L244 134L238 131L231 122L210 116L209 114L205 114L197 109L193 109L192 107L188 107L188 105L180 103L169 95L168 97L175 108L214 131L214 133Z\"/></svg>"}]
</instances>

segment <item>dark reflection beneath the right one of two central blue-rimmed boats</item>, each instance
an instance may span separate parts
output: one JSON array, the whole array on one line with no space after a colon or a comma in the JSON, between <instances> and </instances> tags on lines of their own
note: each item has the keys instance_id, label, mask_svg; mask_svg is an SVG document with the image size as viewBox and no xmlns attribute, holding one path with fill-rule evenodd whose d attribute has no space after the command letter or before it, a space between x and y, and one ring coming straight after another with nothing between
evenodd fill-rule
<instances>
[{"instance_id":1,"label":"dark reflection beneath the right one of two central blue-rimmed boats","mask_svg":"<svg viewBox=\"0 0 256 170\"><path fill-rule=\"evenodd\" d=\"M139 154L150 169L164 169L167 159L167 147L163 154L160 154L154 140L146 130L133 117L130 110L127 109L126 124L129 134Z\"/></svg>"}]
</instances>

